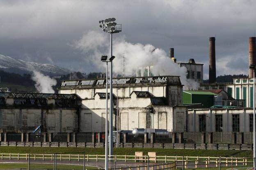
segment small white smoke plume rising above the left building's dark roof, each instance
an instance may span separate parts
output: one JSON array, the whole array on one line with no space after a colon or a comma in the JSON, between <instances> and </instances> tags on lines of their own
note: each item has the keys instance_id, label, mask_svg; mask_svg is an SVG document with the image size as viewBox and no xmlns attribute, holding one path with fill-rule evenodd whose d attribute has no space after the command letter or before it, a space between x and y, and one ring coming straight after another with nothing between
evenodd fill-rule
<instances>
[{"instance_id":1,"label":"small white smoke plume rising above the left building's dark roof","mask_svg":"<svg viewBox=\"0 0 256 170\"><path fill-rule=\"evenodd\" d=\"M33 70L32 80L36 82L35 87L40 93L55 93L52 87L57 84L55 79Z\"/></svg>"}]
</instances>

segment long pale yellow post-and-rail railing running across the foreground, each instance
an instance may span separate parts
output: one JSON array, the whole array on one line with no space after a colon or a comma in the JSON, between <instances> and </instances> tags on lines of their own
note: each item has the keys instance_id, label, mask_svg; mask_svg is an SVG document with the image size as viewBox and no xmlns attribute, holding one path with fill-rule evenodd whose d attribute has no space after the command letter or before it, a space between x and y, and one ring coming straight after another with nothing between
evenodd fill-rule
<instances>
[{"instance_id":1,"label":"long pale yellow post-and-rail railing running across the foreground","mask_svg":"<svg viewBox=\"0 0 256 170\"><path fill-rule=\"evenodd\" d=\"M11 154L0 153L1 160L43 160L53 161L54 154ZM161 165L167 165L168 163L175 163L175 167L199 168L200 167L229 167L229 166L248 166L252 165L253 158L237 158L237 157L210 157L210 156L135 156L135 155L112 155L111 160L115 162L154 162L164 163ZM56 159L59 161L103 161L105 155L91 155L91 154L56 154ZM151 165L152 167L153 165ZM157 165L156 165L157 166ZM140 168L145 166L140 166ZM129 167L128 167L129 168ZM134 168L134 167L132 167ZM122 168L123 169L123 168Z\"/></svg>"}]
</instances>

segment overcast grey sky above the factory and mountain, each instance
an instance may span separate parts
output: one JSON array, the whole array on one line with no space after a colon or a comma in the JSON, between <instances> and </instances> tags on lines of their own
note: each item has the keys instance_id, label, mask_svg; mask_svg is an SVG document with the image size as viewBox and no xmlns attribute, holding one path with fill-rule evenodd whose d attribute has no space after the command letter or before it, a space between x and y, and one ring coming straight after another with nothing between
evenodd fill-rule
<instances>
[{"instance_id":1,"label":"overcast grey sky above the factory and mountain","mask_svg":"<svg viewBox=\"0 0 256 170\"><path fill-rule=\"evenodd\" d=\"M99 71L72 44L90 31L102 32L99 20L115 17L122 32L113 39L151 44L167 54L174 48L177 61L205 64L204 79L209 37L216 36L217 75L248 74L255 7L255 0L1 0L0 54Z\"/></svg>"}]
</instances>

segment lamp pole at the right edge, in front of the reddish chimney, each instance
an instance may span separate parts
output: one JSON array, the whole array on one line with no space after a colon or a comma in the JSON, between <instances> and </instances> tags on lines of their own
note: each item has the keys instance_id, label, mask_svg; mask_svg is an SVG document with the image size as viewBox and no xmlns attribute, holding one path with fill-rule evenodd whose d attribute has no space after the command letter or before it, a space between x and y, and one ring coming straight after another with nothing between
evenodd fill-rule
<instances>
[{"instance_id":1,"label":"lamp pole at the right edge, in front of the reddish chimney","mask_svg":"<svg viewBox=\"0 0 256 170\"><path fill-rule=\"evenodd\" d=\"M255 162L255 159L256 159L256 134L255 134L255 70L256 70L256 64L251 64L250 66L249 66L249 68L250 69L253 69L253 75L254 75L254 84L253 84L253 128L254 128L254 130L253 130L253 133L254 133L254 170L255 170L255 168L256 168L256 162Z\"/></svg>"}]
</instances>

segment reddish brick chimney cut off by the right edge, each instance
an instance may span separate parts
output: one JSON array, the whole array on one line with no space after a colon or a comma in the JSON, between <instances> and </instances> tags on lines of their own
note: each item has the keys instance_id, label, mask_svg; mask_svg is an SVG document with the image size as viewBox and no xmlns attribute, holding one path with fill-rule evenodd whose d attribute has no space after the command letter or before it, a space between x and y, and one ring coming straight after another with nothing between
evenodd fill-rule
<instances>
[{"instance_id":1,"label":"reddish brick chimney cut off by the right edge","mask_svg":"<svg viewBox=\"0 0 256 170\"><path fill-rule=\"evenodd\" d=\"M249 66L256 64L256 37L249 37ZM249 69L249 78L253 78L253 71Z\"/></svg>"}]
</instances>

